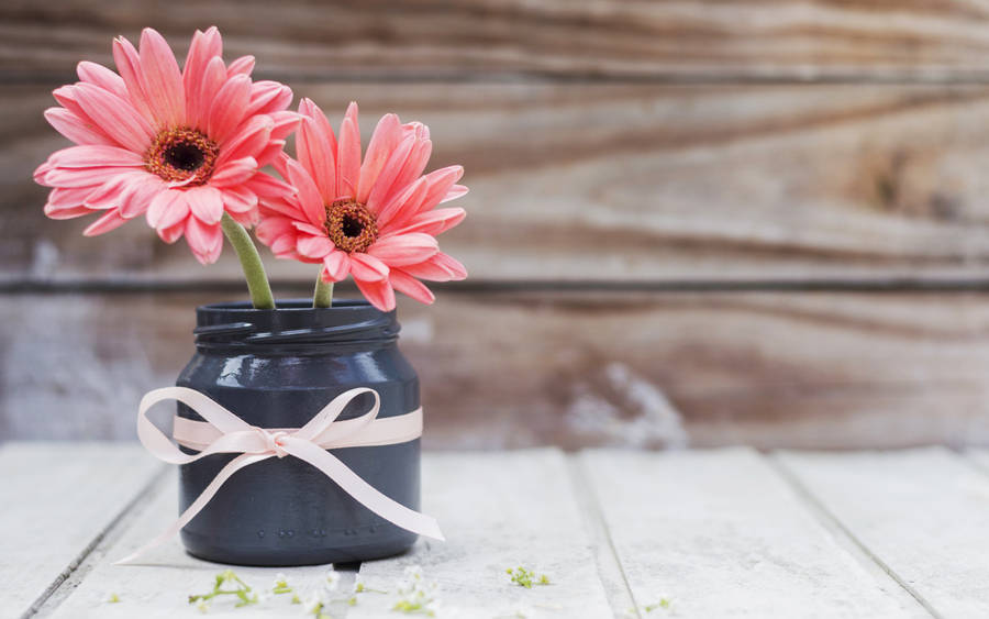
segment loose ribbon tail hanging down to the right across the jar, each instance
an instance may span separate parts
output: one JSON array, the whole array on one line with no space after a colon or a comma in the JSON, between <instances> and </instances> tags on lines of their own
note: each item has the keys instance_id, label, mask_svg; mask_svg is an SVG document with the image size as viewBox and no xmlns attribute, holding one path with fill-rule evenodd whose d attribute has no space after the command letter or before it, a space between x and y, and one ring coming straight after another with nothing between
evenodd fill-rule
<instances>
[{"instance_id":1,"label":"loose ribbon tail hanging down to the right across the jar","mask_svg":"<svg viewBox=\"0 0 989 619\"><path fill-rule=\"evenodd\" d=\"M288 439L285 451L322 471L360 505L392 524L426 538L446 540L440 531L440 524L435 518L409 509L385 496L326 450L305 440Z\"/></svg>"}]
</instances>

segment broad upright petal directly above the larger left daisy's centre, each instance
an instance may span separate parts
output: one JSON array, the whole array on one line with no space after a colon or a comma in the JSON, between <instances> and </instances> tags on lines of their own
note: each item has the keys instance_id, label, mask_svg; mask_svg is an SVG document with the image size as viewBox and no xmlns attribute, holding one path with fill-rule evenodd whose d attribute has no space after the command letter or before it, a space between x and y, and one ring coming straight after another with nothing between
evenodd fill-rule
<instances>
[{"instance_id":1,"label":"broad upright petal directly above the larger left daisy's centre","mask_svg":"<svg viewBox=\"0 0 989 619\"><path fill-rule=\"evenodd\" d=\"M182 74L165 37L149 27L141 32L141 70L145 96L159 124L181 125L186 120Z\"/></svg>"}]
</instances>

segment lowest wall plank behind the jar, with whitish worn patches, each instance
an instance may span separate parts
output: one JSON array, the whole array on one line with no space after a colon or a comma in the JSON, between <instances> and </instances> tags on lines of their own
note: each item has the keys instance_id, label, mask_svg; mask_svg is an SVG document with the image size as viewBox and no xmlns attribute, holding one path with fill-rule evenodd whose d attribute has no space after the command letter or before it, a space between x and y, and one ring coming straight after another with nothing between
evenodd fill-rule
<instances>
[{"instance_id":1,"label":"lowest wall plank behind the jar, with whitish worn patches","mask_svg":"<svg viewBox=\"0 0 989 619\"><path fill-rule=\"evenodd\" d=\"M224 297L0 299L0 436L133 436ZM431 447L989 444L984 295L446 292L399 319Z\"/></svg>"}]
</instances>

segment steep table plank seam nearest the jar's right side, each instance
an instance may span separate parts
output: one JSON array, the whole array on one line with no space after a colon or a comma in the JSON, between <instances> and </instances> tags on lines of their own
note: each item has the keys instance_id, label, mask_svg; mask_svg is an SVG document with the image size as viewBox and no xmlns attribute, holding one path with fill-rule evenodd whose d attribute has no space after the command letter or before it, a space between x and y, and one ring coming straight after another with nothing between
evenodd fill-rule
<instances>
[{"instance_id":1,"label":"steep table plank seam nearest the jar's right side","mask_svg":"<svg viewBox=\"0 0 989 619\"><path fill-rule=\"evenodd\" d=\"M604 521L604 515L601 512L601 504L594 491L593 484L585 469L586 463L577 455L567 456L567 473L570 476L570 486L573 488L574 499L580 508L581 517L588 530L588 539L592 544L594 560L598 564L598 577L608 596L608 603L614 616L629 617L629 609L633 609L634 617L641 618L638 604L632 594L632 586L622 566L621 559L614 548L608 524ZM621 590L614 592L607 586L607 578L603 572L613 572L621 583Z\"/></svg>"}]
</instances>

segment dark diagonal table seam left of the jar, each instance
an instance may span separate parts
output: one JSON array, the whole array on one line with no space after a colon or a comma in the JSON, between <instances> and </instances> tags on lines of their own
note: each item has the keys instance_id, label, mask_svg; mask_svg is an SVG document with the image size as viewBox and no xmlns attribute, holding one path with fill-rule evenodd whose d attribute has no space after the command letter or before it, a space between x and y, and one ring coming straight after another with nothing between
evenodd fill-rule
<instances>
[{"instance_id":1,"label":"dark diagonal table seam left of the jar","mask_svg":"<svg viewBox=\"0 0 989 619\"><path fill-rule=\"evenodd\" d=\"M169 467L162 465L137 491L134 497L97 533L85 549L74 559L65 570L58 574L51 585L35 599L20 619L42 617L54 611L62 601L71 594L74 585L78 585L92 565L105 551L113 545L116 538L123 532L130 522L141 511L140 506L145 499L152 497L164 484Z\"/></svg>"}]
</instances>

